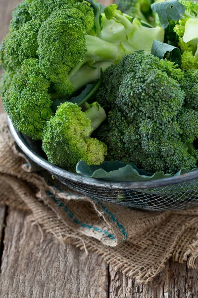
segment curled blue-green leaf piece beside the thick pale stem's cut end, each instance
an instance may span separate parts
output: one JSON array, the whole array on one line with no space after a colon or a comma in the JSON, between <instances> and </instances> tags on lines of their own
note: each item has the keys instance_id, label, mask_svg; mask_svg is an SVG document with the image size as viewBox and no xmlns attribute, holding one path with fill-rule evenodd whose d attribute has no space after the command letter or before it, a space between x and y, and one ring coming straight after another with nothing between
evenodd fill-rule
<instances>
[{"instance_id":1,"label":"curled blue-green leaf piece beside the thick pale stem's cut end","mask_svg":"<svg viewBox=\"0 0 198 298\"><path fill-rule=\"evenodd\" d=\"M182 57L179 48L173 47L158 40L153 40L150 54L160 58L167 59L175 64L178 64L179 68L182 66Z\"/></svg>"}]
</instances>

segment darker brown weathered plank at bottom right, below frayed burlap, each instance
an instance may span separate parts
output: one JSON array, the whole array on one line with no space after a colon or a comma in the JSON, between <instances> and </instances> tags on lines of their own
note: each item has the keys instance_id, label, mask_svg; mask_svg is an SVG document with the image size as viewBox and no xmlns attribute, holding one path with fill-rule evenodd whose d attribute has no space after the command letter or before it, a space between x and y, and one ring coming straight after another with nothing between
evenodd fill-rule
<instances>
[{"instance_id":1,"label":"darker brown weathered plank at bottom right, below frayed burlap","mask_svg":"<svg viewBox=\"0 0 198 298\"><path fill-rule=\"evenodd\" d=\"M198 265L198 264L197 264ZM163 272L148 285L137 285L121 273L109 268L109 298L197 298L198 269L187 263L169 261Z\"/></svg>"}]
</instances>

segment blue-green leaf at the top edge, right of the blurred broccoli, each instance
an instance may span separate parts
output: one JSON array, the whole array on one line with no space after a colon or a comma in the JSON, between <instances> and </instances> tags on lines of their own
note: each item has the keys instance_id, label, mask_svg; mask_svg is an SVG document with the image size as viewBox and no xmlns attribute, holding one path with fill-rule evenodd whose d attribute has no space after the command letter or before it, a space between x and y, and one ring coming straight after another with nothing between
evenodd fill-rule
<instances>
[{"instance_id":1,"label":"blue-green leaf at the top edge, right of the blurred broccoli","mask_svg":"<svg viewBox=\"0 0 198 298\"><path fill-rule=\"evenodd\" d=\"M185 7L177 0L156 2L150 5L152 11L156 12L162 28L169 24L168 20L179 20L185 12Z\"/></svg>"}]
</instances>

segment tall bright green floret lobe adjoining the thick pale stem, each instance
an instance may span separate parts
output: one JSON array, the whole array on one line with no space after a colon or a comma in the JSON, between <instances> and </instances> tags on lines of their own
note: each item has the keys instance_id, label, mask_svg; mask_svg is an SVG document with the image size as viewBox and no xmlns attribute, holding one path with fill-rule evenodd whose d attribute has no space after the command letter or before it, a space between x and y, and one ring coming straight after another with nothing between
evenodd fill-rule
<instances>
[{"instance_id":1,"label":"tall bright green floret lobe adjoining the thick pale stem","mask_svg":"<svg viewBox=\"0 0 198 298\"><path fill-rule=\"evenodd\" d=\"M55 10L42 24L38 35L38 55L42 72L56 84L59 93L71 94L68 73L86 54L85 35L94 25L93 10L76 3Z\"/></svg>"}]
</instances>

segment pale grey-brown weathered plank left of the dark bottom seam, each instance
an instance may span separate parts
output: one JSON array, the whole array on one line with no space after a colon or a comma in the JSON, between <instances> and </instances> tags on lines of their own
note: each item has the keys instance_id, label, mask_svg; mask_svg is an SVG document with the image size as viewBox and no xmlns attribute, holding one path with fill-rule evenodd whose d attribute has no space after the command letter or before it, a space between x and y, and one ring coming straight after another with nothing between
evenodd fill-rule
<instances>
[{"instance_id":1,"label":"pale grey-brown weathered plank left of the dark bottom seam","mask_svg":"<svg viewBox=\"0 0 198 298\"><path fill-rule=\"evenodd\" d=\"M108 266L9 211L0 274L3 298L107 298Z\"/></svg>"}]
</instances>

